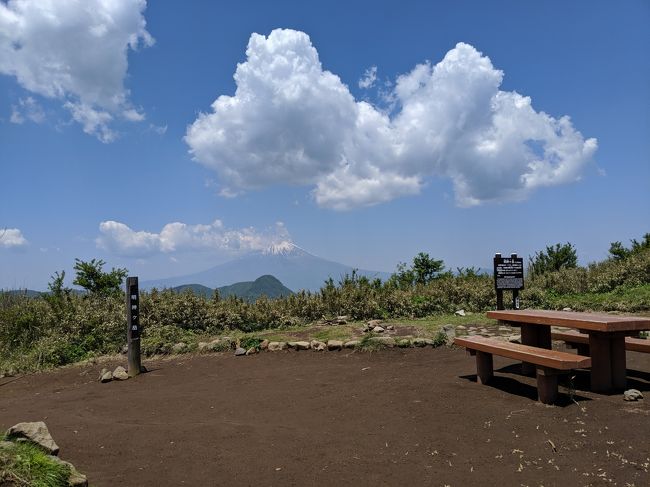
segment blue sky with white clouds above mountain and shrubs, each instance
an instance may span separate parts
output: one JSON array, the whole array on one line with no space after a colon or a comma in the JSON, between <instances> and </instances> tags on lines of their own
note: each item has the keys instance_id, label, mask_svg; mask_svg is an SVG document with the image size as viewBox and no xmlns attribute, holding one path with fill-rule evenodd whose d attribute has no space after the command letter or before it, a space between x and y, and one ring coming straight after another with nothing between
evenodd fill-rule
<instances>
[{"instance_id":1,"label":"blue sky with white clouds above mountain and shrubs","mask_svg":"<svg viewBox=\"0 0 650 487\"><path fill-rule=\"evenodd\" d=\"M567 3L0 2L0 288L606 257L650 231L650 4Z\"/></svg>"}]
</instances>

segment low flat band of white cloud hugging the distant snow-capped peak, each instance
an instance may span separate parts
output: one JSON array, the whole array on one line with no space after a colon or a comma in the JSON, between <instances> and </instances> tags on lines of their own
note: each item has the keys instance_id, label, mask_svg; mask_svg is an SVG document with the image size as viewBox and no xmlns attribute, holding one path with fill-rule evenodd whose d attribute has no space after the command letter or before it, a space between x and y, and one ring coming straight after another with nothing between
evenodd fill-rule
<instances>
[{"instance_id":1,"label":"low flat band of white cloud hugging the distant snow-capped peak","mask_svg":"<svg viewBox=\"0 0 650 487\"><path fill-rule=\"evenodd\" d=\"M125 257L185 251L266 250L291 243L291 236L281 222L264 231L253 227L229 229L221 220L197 225L173 222L154 233L136 231L124 223L109 220L99 224L99 232L95 240L99 248Z\"/></svg>"}]
</instances>

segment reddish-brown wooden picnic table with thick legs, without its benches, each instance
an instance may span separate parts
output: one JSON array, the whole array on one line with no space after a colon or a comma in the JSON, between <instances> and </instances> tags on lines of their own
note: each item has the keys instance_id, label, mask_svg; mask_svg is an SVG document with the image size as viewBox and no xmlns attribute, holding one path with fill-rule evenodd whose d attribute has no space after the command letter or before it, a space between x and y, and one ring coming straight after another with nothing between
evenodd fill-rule
<instances>
[{"instance_id":1,"label":"reddish-brown wooden picnic table with thick legs, without its benches","mask_svg":"<svg viewBox=\"0 0 650 487\"><path fill-rule=\"evenodd\" d=\"M487 317L521 327L521 343L540 348L551 348L551 326L588 334L591 390L596 392L625 388L625 337L650 330L650 318L641 316L522 309L488 311Z\"/></svg>"}]
</instances>

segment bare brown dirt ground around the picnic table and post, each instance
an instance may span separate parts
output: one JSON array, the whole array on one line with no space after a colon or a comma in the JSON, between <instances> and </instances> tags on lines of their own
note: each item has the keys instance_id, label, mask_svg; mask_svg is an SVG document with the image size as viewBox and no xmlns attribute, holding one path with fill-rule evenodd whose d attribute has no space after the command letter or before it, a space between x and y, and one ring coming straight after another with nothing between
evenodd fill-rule
<instances>
[{"instance_id":1,"label":"bare brown dirt ground around the picnic table and post","mask_svg":"<svg viewBox=\"0 0 650 487\"><path fill-rule=\"evenodd\" d=\"M491 386L458 349L214 354L0 380L0 428L43 420L96 486L650 485L650 356L628 354L646 399L535 400L495 357ZM115 364L116 365L116 364ZM566 393L566 388L561 388Z\"/></svg>"}]
</instances>

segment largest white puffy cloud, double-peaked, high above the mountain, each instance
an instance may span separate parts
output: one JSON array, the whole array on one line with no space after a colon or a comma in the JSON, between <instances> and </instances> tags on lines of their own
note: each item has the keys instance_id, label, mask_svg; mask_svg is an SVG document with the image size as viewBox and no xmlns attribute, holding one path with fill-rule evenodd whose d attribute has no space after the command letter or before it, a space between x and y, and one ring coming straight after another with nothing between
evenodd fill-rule
<instances>
[{"instance_id":1,"label":"largest white puffy cloud, double-peaked, high above the mountain","mask_svg":"<svg viewBox=\"0 0 650 487\"><path fill-rule=\"evenodd\" d=\"M518 201L579 180L597 148L568 117L500 90L503 72L468 44L389 84L390 113L355 100L303 32L253 34L246 56L234 96L219 96L185 136L233 194L308 185L320 206L346 210L417 194L428 178L444 177L460 206ZM360 86L375 80L373 67Z\"/></svg>"}]
</instances>

